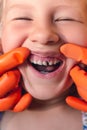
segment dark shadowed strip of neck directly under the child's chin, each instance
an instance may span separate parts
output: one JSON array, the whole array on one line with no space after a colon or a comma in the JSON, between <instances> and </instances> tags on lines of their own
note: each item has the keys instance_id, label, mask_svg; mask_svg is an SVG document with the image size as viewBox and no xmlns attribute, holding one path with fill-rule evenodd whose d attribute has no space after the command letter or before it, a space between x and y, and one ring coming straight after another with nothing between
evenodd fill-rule
<instances>
[{"instance_id":1,"label":"dark shadowed strip of neck directly under the child's chin","mask_svg":"<svg viewBox=\"0 0 87 130\"><path fill-rule=\"evenodd\" d=\"M29 109L47 110L47 109L53 108L55 106L64 105L64 104L66 104L65 98L68 96L68 93L69 93L69 91L66 91L61 96L58 96L58 97L56 97L54 99L50 99L50 100L33 99Z\"/></svg>"}]
</instances>

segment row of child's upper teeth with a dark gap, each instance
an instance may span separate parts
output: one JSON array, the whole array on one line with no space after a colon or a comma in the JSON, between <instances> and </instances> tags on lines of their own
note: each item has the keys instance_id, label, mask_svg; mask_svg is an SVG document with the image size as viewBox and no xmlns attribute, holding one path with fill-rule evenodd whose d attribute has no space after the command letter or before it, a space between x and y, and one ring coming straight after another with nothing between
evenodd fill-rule
<instances>
[{"instance_id":1,"label":"row of child's upper teeth with a dark gap","mask_svg":"<svg viewBox=\"0 0 87 130\"><path fill-rule=\"evenodd\" d=\"M54 60L50 60L50 61L41 61L41 60L36 61L36 60L30 59L30 62L33 64L47 66L47 65L55 65L58 62L60 62L60 60L54 59Z\"/></svg>"}]
</instances>

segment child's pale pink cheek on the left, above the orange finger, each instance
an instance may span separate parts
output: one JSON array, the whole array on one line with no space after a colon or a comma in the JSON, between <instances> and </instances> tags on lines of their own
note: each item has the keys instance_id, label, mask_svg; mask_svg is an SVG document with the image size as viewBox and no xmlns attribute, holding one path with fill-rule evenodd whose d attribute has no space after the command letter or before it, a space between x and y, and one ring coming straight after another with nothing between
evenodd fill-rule
<instances>
[{"instance_id":1,"label":"child's pale pink cheek on the left, above the orange finger","mask_svg":"<svg viewBox=\"0 0 87 130\"><path fill-rule=\"evenodd\" d=\"M4 52L8 52L14 48L22 46L26 39L23 31L13 28L5 28L2 31L1 43Z\"/></svg>"}]
</instances>

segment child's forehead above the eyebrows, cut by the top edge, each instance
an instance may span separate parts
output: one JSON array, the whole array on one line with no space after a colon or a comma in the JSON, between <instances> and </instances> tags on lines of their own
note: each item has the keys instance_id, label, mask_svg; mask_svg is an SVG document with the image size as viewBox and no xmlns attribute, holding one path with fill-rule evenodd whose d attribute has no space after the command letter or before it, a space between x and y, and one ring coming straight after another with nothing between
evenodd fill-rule
<instances>
[{"instance_id":1,"label":"child's forehead above the eyebrows, cut by the top edge","mask_svg":"<svg viewBox=\"0 0 87 130\"><path fill-rule=\"evenodd\" d=\"M55 7L60 8L71 8L79 11L82 15L87 15L87 0L3 0L4 12L16 8L31 9L33 12L40 12L54 10ZM16 9L15 8L15 9ZM35 11L34 11L35 10Z\"/></svg>"}]
</instances>

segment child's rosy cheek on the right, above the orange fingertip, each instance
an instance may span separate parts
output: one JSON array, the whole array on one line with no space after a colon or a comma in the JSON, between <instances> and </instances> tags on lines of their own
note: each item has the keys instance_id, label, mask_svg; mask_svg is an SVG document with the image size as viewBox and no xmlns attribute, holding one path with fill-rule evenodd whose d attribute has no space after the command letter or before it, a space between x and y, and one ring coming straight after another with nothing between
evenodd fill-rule
<instances>
[{"instance_id":1,"label":"child's rosy cheek on the right, above the orange fingertip","mask_svg":"<svg viewBox=\"0 0 87 130\"><path fill-rule=\"evenodd\" d=\"M62 36L65 42L87 46L87 26L66 26L62 29L62 32Z\"/></svg>"}]
</instances>

